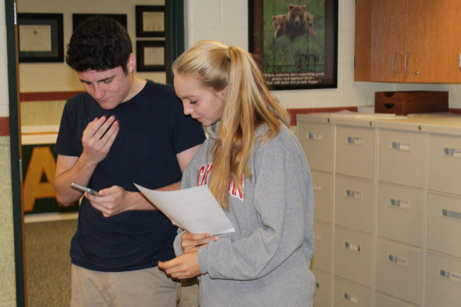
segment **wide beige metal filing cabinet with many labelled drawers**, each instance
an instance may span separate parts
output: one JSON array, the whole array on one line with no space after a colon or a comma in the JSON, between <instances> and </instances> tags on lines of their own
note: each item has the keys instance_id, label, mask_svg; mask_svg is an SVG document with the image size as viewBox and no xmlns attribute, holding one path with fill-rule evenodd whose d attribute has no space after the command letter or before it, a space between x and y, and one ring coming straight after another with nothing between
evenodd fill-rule
<instances>
[{"instance_id":1,"label":"wide beige metal filing cabinet with many labelled drawers","mask_svg":"<svg viewBox=\"0 0 461 307\"><path fill-rule=\"evenodd\" d=\"M329 278L332 289L315 306L459 306L461 117L386 120L331 113L297 119L311 127L311 137L326 131L321 138L326 133L328 140L303 146L319 184L316 202L327 204L315 212L314 253L326 260L315 259L312 270ZM328 192L323 182L330 184ZM326 234L330 249L321 242Z\"/></svg>"}]
</instances>

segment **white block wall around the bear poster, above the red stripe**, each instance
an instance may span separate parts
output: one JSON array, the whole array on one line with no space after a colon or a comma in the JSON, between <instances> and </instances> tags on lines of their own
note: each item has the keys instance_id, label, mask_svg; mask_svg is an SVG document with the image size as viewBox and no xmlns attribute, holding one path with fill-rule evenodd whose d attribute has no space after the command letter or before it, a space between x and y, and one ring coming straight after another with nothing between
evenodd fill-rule
<instances>
[{"instance_id":1,"label":"white block wall around the bear poster, above the red stripe","mask_svg":"<svg viewBox=\"0 0 461 307\"><path fill-rule=\"evenodd\" d=\"M317 0L311 0L317 1ZM227 45L248 48L247 0L185 0L186 43L217 39ZM461 86L354 82L353 0L339 0L338 88L275 91L288 108L373 105L374 92L401 90L449 91L450 107L461 108Z\"/></svg>"}]
</instances>

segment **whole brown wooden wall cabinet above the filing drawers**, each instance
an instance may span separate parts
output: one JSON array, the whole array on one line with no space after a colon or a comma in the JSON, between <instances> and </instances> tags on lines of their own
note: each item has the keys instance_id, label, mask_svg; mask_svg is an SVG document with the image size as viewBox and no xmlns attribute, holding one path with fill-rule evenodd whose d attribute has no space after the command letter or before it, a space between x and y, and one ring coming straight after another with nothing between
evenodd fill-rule
<instances>
[{"instance_id":1,"label":"whole brown wooden wall cabinet above the filing drawers","mask_svg":"<svg viewBox=\"0 0 461 307\"><path fill-rule=\"evenodd\" d=\"M461 82L461 2L357 0L354 80Z\"/></svg>"}]
</instances>

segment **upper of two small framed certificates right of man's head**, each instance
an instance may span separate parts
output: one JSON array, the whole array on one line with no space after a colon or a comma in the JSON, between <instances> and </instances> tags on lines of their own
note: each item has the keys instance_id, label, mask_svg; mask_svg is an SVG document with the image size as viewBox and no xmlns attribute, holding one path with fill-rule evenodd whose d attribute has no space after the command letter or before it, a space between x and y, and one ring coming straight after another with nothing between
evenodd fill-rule
<instances>
[{"instance_id":1,"label":"upper of two small framed certificates right of man's head","mask_svg":"<svg viewBox=\"0 0 461 307\"><path fill-rule=\"evenodd\" d=\"M136 37L165 36L164 5L137 5L135 11Z\"/></svg>"}]
</instances>

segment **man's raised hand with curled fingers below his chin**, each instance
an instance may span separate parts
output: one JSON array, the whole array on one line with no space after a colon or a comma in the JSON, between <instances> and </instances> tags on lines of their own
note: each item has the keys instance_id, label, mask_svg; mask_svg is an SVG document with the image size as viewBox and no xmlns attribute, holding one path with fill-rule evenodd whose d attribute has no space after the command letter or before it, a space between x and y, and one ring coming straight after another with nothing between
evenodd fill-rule
<instances>
[{"instance_id":1,"label":"man's raised hand with curled fingers below his chin","mask_svg":"<svg viewBox=\"0 0 461 307\"><path fill-rule=\"evenodd\" d=\"M98 164L104 160L114 143L119 128L120 125L114 116L108 119L102 116L88 123L81 137L83 152L80 158L92 164Z\"/></svg>"}]
</instances>

